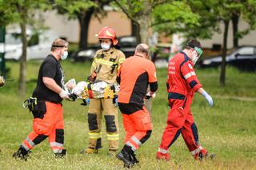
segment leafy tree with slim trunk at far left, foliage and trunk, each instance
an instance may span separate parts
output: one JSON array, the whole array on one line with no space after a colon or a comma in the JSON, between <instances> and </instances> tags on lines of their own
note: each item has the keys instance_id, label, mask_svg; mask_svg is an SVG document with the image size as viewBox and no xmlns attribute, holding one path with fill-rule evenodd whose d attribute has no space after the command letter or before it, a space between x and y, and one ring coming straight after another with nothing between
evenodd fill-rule
<instances>
[{"instance_id":1,"label":"leafy tree with slim trunk at far left, foliage and trunk","mask_svg":"<svg viewBox=\"0 0 256 170\"><path fill-rule=\"evenodd\" d=\"M26 25L34 20L34 10L49 9L50 3L46 0L0 0L0 6L0 14L2 14L0 18L1 25L18 23L21 29L22 57L20 58L18 91L19 94L24 96L26 94Z\"/></svg>"}]
</instances>

